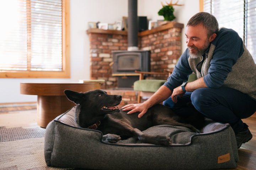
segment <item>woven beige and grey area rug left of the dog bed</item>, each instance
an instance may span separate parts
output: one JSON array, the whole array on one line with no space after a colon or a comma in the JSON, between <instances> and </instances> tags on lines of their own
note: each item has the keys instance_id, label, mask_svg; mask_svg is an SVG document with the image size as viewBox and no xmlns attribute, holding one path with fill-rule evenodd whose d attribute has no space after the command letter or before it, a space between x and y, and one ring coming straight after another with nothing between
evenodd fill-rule
<instances>
[{"instance_id":1,"label":"woven beige and grey area rug left of the dog bed","mask_svg":"<svg viewBox=\"0 0 256 170\"><path fill-rule=\"evenodd\" d=\"M75 170L48 167L44 160L45 129L37 125L0 127L1 170Z\"/></svg>"}]
</instances>

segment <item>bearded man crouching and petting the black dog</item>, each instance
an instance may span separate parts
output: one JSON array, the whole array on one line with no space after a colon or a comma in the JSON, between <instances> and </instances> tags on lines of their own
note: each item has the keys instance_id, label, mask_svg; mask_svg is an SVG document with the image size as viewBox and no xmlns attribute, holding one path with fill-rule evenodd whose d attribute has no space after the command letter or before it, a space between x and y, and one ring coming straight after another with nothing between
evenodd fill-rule
<instances>
[{"instance_id":1,"label":"bearded man crouching and petting the black dog","mask_svg":"<svg viewBox=\"0 0 256 170\"><path fill-rule=\"evenodd\" d=\"M219 29L217 19L209 13L194 15L185 35L187 49L167 82L147 101L128 104L123 110L140 112L140 118L149 107L164 101L165 106L186 117L194 107L207 118L229 123L240 148L252 138L241 119L256 112L256 64L238 33ZM197 80L186 83L192 72Z\"/></svg>"}]
</instances>

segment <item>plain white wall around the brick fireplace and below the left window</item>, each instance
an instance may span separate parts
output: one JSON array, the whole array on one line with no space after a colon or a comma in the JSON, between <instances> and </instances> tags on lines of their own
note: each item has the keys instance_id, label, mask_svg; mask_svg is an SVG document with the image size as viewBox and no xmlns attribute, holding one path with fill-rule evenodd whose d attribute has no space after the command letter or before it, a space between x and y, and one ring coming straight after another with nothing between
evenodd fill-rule
<instances>
[{"instance_id":1,"label":"plain white wall around the brick fireplace and below the left window","mask_svg":"<svg viewBox=\"0 0 256 170\"><path fill-rule=\"evenodd\" d=\"M158 16L158 11L162 7L161 1L166 3L165 0L138 0L138 16L147 16L150 20L163 19L162 16ZM186 26L188 19L199 12L199 0L179 0L178 4L184 6L174 6L175 21ZM114 23L122 20L123 16L128 16L128 0L70 0L70 79L0 79L0 103L36 101L37 97L34 95L20 94L22 82L77 82L79 79L90 79L87 23ZM184 31L185 29L183 35ZM182 51L186 48L183 39Z\"/></svg>"}]
</instances>

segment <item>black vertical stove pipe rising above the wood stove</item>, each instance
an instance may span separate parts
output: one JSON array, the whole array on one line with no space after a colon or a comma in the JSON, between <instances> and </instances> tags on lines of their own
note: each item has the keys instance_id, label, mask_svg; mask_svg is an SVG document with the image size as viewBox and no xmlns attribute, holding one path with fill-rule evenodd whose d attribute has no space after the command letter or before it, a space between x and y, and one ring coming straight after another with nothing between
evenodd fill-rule
<instances>
[{"instance_id":1,"label":"black vertical stove pipe rising above the wood stove","mask_svg":"<svg viewBox=\"0 0 256 170\"><path fill-rule=\"evenodd\" d=\"M138 1L128 0L128 51L138 50Z\"/></svg>"}]
</instances>

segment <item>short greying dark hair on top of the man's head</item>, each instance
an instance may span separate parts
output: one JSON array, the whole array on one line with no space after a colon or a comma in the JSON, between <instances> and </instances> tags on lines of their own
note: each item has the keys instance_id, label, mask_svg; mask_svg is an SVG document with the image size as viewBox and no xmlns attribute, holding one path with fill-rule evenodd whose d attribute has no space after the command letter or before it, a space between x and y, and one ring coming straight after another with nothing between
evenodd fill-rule
<instances>
[{"instance_id":1,"label":"short greying dark hair on top of the man's head","mask_svg":"<svg viewBox=\"0 0 256 170\"><path fill-rule=\"evenodd\" d=\"M199 12L194 15L187 23L188 26L197 26L203 24L203 27L207 29L207 35L210 37L214 33L218 33L219 24L217 19L210 13Z\"/></svg>"}]
</instances>

